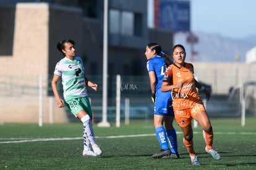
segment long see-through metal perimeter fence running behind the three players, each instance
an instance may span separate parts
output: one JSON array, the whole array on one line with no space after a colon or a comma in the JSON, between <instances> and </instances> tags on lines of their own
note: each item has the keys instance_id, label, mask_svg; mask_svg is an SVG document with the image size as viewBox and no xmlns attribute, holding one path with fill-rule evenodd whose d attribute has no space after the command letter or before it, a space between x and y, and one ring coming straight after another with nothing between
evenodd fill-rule
<instances>
[{"instance_id":1,"label":"long see-through metal perimeter fence running behind the three players","mask_svg":"<svg viewBox=\"0 0 256 170\"><path fill-rule=\"evenodd\" d=\"M49 76L51 77L51 76ZM102 77L95 75L88 75L88 79L99 85L99 90L95 92L88 88L88 95L90 96L92 109L94 114L94 121L100 122L102 119L102 93L103 84ZM113 123L116 121L116 76L108 77L108 121ZM121 121L125 121L127 111L129 111L129 119L145 119L148 121L153 119L153 103L151 102L151 90L148 75L145 76L121 76L120 90L120 113ZM8 108L14 109L13 103L19 99L19 108L25 109L27 114L37 114L40 112L40 106L45 109L43 114L54 114L56 110L56 103L53 100L53 91L51 89L51 79L43 79L40 77L14 77L0 75L0 100L2 107L0 117L5 115L4 112ZM205 85L208 90L211 85ZM59 83L59 89L61 89ZM41 91L40 91L41 89ZM61 91L60 91L61 92ZM203 99L205 96L200 93ZM48 103L40 105L41 102ZM25 100L27 107L22 102ZM12 101L12 102L9 102ZM256 83L244 82L239 85L234 85L227 90L226 94L211 94L210 101L203 100L207 107L207 112L210 117L241 117L244 113L245 117L256 115ZM17 104L17 103L15 103ZM22 104L24 107L22 107ZM128 104L128 105L127 105ZM51 106L53 105L53 106ZM127 110L127 106L129 109ZM52 110L54 111L51 111ZM52 113L51 113L52 112ZM65 111L69 121L75 121L69 111ZM48 116L50 119L51 116ZM19 120L18 120L19 121ZM1 121L0 121L1 122ZM54 122L51 120L49 122Z\"/></svg>"}]
</instances>

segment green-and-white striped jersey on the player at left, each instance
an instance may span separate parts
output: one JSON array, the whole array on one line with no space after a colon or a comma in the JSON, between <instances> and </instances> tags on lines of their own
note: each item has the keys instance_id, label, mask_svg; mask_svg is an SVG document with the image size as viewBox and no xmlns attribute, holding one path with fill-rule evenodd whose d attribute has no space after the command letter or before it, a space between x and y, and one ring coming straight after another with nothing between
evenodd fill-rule
<instances>
[{"instance_id":1,"label":"green-and-white striped jersey on the player at left","mask_svg":"<svg viewBox=\"0 0 256 170\"><path fill-rule=\"evenodd\" d=\"M79 56L74 61L64 57L56 64L54 74L61 77L64 90L64 99L80 98L87 96L83 61Z\"/></svg>"}]
</instances>

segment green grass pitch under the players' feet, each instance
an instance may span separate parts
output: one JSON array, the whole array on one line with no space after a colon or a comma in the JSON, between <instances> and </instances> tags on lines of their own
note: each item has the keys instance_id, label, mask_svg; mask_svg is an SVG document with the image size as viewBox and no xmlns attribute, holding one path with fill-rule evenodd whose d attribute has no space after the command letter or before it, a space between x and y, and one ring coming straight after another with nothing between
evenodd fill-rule
<instances>
[{"instance_id":1,"label":"green grass pitch under the players' feet","mask_svg":"<svg viewBox=\"0 0 256 170\"><path fill-rule=\"evenodd\" d=\"M82 124L3 124L0 125L0 169L256 169L256 118L211 119L215 132L213 147L222 159L205 153L202 129L194 129L194 148L202 165L190 165L182 143L181 129L175 124L180 159L152 159L160 150L153 135L153 122L131 121L130 125L109 128L94 125L103 156L83 157ZM144 137L119 135L150 134ZM109 138L116 137L116 138ZM2 143L36 138L74 138L70 140ZM78 138L81 137L81 138Z\"/></svg>"}]
</instances>

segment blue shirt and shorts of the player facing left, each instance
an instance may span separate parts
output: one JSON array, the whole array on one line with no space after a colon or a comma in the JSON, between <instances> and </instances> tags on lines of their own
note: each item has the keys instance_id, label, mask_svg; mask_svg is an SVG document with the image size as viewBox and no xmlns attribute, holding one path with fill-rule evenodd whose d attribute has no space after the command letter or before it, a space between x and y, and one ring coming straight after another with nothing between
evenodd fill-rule
<instances>
[{"instance_id":1,"label":"blue shirt and shorts of the player facing left","mask_svg":"<svg viewBox=\"0 0 256 170\"><path fill-rule=\"evenodd\" d=\"M164 72L166 70L163 57L155 56L147 62L148 72L155 72L156 75L156 98L154 113L163 116L169 114L174 116L172 105L171 92L162 92L161 86L163 82Z\"/></svg>"}]
</instances>

